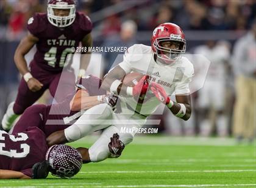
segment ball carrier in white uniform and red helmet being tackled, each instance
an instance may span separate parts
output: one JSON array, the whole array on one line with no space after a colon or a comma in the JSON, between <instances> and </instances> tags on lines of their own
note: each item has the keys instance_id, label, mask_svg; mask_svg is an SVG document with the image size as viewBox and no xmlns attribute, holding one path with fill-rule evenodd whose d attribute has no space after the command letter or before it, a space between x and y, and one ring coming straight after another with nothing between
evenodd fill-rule
<instances>
[{"instance_id":1,"label":"ball carrier in white uniform and red helmet being tackled","mask_svg":"<svg viewBox=\"0 0 256 188\"><path fill-rule=\"evenodd\" d=\"M112 113L108 117L102 115L102 118L106 120L104 122L106 128L99 139L88 149L88 158L83 158L84 162L98 162L121 155L124 146L132 142L135 135L134 132L121 132L121 129L142 127L146 123L147 116L151 115L161 103L165 104L178 118L184 120L190 118L191 101L188 84L194 75L194 69L193 64L187 58L182 57L185 50L185 35L178 25L172 23L161 24L155 28L151 46L135 44L127 50L123 62L110 70L102 83L104 89L119 95L121 113ZM145 75L134 87L125 86L122 82L123 78L131 72ZM176 96L176 102L170 99L173 94ZM144 99L138 101L141 95ZM93 111L104 111L102 105L104 104L92 107L84 115ZM85 125L83 116L64 132L50 135L48 143L52 145L76 141L88 135L90 127L95 130L97 125ZM90 120L93 118L91 116ZM112 119L110 124L106 123L107 119ZM102 123L99 116L96 120ZM102 124L99 127L102 129ZM118 135L113 135L114 133ZM112 142L109 143L110 138Z\"/></svg>"}]
</instances>

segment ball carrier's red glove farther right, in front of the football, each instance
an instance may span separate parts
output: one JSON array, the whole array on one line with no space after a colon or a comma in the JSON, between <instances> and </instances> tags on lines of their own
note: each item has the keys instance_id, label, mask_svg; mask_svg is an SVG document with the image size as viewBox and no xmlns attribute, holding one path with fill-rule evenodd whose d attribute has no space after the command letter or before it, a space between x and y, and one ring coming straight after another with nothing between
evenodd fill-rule
<instances>
[{"instance_id":1,"label":"ball carrier's red glove farther right, in front of the football","mask_svg":"<svg viewBox=\"0 0 256 188\"><path fill-rule=\"evenodd\" d=\"M169 96L166 94L165 89L155 82L151 82L151 91L159 101L163 102L163 104L169 104L171 101Z\"/></svg>"}]
</instances>

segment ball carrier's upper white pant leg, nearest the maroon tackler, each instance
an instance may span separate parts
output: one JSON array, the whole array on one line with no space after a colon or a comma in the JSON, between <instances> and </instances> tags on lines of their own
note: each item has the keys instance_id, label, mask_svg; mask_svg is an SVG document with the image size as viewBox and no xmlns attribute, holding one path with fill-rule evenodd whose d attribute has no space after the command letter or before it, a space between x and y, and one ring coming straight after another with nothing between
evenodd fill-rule
<instances>
[{"instance_id":1,"label":"ball carrier's upper white pant leg, nearest the maroon tackler","mask_svg":"<svg viewBox=\"0 0 256 188\"><path fill-rule=\"evenodd\" d=\"M76 123L64 130L69 142L76 141L94 131L105 129L112 124L113 110L108 104L98 104L88 109Z\"/></svg>"}]
</instances>

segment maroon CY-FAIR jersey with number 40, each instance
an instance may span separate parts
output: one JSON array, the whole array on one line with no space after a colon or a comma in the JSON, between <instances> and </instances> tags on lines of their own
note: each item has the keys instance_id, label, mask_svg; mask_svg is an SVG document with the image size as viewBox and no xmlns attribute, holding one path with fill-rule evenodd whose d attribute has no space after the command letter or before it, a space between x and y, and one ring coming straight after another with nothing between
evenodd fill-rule
<instances>
[{"instance_id":1,"label":"maroon CY-FAIR jersey with number 40","mask_svg":"<svg viewBox=\"0 0 256 188\"><path fill-rule=\"evenodd\" d=\"M36 36L37 52L34 61L44 70L61 72L63 67L70 66L74 47L79 46L85 35L91 32L90 18L76 12L76 19L68 27L59 28L52 25L46 13L36 13L27 23L29 32Z\"/></svg>"}]
</instances>

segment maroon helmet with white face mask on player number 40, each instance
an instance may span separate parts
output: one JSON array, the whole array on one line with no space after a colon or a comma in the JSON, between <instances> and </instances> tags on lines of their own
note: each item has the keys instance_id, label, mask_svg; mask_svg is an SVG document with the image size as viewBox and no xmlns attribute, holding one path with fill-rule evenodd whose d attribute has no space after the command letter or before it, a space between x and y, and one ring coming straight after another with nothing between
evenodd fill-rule
<instances>
[{"instance_id":1,"label":"maroon helmet with white face mask on player number 40","mask_svg":"<svg viewBox=\"0 0 256 188\"><path fill-rule=\"evenodd\" d=\"M68 16L56 16L54 9L69 9ZM56 27L67 27L73 24L76 19L75 0L49 0L47 7L47 17L49 22Z\"/></svg>"}]
</instances>

